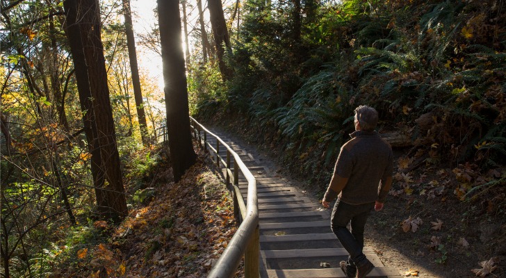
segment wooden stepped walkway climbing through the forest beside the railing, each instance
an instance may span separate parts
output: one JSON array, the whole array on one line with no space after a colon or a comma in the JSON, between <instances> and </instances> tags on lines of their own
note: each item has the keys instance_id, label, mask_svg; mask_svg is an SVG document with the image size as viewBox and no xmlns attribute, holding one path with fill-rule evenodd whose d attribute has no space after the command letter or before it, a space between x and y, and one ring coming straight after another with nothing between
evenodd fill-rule
<instances>
[{"instance_id":1,"label":"wooden stepped walkway climbing through the forest beside the railing","mask_svg":"<svg viewBox=\"0 0 506 278\"><path fill-rule=\"evenodd\" d=\"M256 178L261 277L345 278L339 261L348 259L348 252L330 229L331 211L323 209L318 200L291 186L219 131L211 132L234 149ZM207 139L215 145L215 138ZM226 150L220 156L226 158ZM247 181L243 177L239 178L239 188L246 199ZM401 277L398 270L385 267L370 248L364 247L364 254L375 265L367 277Z\"/></svg>"}]
</instances>

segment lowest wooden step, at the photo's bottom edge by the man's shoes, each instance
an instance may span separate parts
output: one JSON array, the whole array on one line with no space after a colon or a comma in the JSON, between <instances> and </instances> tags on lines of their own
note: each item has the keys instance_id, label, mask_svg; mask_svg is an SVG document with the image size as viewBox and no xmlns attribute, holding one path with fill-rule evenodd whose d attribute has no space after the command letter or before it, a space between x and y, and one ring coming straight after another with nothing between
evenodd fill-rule
<instances>
[{"instance_id":1,"label":"lowest wooden step, at the photo's bottom edge by the man's shoes","mask_svg":"<svg viewBox=\"0 0 506 278\"><path fill-rule=\"evenodd\" d=\"M269 278L346 278L341 268L301 269L301 270L267 270ZM367 277L401 277L397 270L377 266Z\"/></svg>"}]
</instances>

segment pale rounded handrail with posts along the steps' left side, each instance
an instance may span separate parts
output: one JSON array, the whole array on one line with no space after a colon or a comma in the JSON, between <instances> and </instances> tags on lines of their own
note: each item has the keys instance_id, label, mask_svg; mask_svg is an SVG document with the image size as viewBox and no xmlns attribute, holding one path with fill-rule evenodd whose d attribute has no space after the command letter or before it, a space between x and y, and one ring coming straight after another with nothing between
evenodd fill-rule
<instances>
[{"instance_id":1,"label":"pale rounded handrail with posts along the steps' left side","mask_svg":"<svg viewBox=\"0 0 506 278\"><path fill-rule=\"evenodd\" d=\"M216 163L219 165L220 162L225 165L227 168L227 186L229 186L229 181L232 176L231 168L230 168L230 156L234 157L234 183L233 190L234 193L234 215L238 218L238 212L240 211L240 216L242 218L242 222L238 227L236 233L230 240L227 248L218 259L218 262L215 263L211 272L209 272L208 277L234 277L234 274L239 266L240 260L245 256L245 277L259 277L259 205L258 198L256 196L256 179L253 177L253 174L246 167L243 161L240 160L240 157L234 150L227 145L227 143L223 142L221 138L211 133L208 129L206 129L202 124L199 124L193 117L190 117L191 127L193 129L193 136L198 139L199 147L204 147L204 149L211 149L215 152L216 155ZM202 145L202 137L200 132L204 132L204 145ZM197 134L198 133L198 134ZM207 142L207 134L214 136L216 138L216 148L214 148L211 143ZM219 152L220 152L220 144L227 149L227 162L225 162ZM238 179L238 171L243 172L245 178L247 179L247 206L244 204L243 196L239 190L239 179ZM232 188L231 188L232 189Z\"/></svg>"}]
</instances>

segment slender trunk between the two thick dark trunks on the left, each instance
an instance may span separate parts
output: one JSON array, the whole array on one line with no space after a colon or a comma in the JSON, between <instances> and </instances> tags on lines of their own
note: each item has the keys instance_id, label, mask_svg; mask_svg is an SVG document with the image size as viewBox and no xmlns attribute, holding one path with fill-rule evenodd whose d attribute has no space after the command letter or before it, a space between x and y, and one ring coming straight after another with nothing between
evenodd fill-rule
<instances>
[{"instance_id":1,"label":"slender trunk between the two thick dark trunks on the left","mask_svg":"<svg viewBox=\"0 0 506 278\"><path fill-rule=\"evenodd\" d=\"M136 40L133 38L133 24L130 9L130 0L123 1L124 25L126 28L126 46L129 49L130 70L132 74L133 96L136 99L137 118L139 121L140 136L144 145L149 145L147 133L146 113L142 101L142 90L140 89L139 69L137 65Z\"/></svg>"}]
</instances>

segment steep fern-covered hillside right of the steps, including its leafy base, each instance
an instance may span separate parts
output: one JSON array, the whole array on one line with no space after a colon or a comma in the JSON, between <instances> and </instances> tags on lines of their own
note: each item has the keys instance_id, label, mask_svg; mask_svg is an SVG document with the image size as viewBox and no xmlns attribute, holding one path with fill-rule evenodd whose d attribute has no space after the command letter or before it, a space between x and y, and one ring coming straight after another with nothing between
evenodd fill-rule
<instances>
[{"instance_id":1,"label":"steep fern-covered hillside right of the steps, including its leafy base","mask_svg":"<svg viewBox=\"0 0 506 278\"><path fill-rule=\"evenodd\" d=\"M321 197L352 111L373 106L397 158L377 237L442 277L504 265L504 2L343 1L304 10L300 40L270 14L284 8L248 10L236 75L197 98L199 119L224 122Z\"/></svg>"}]
</instances>

